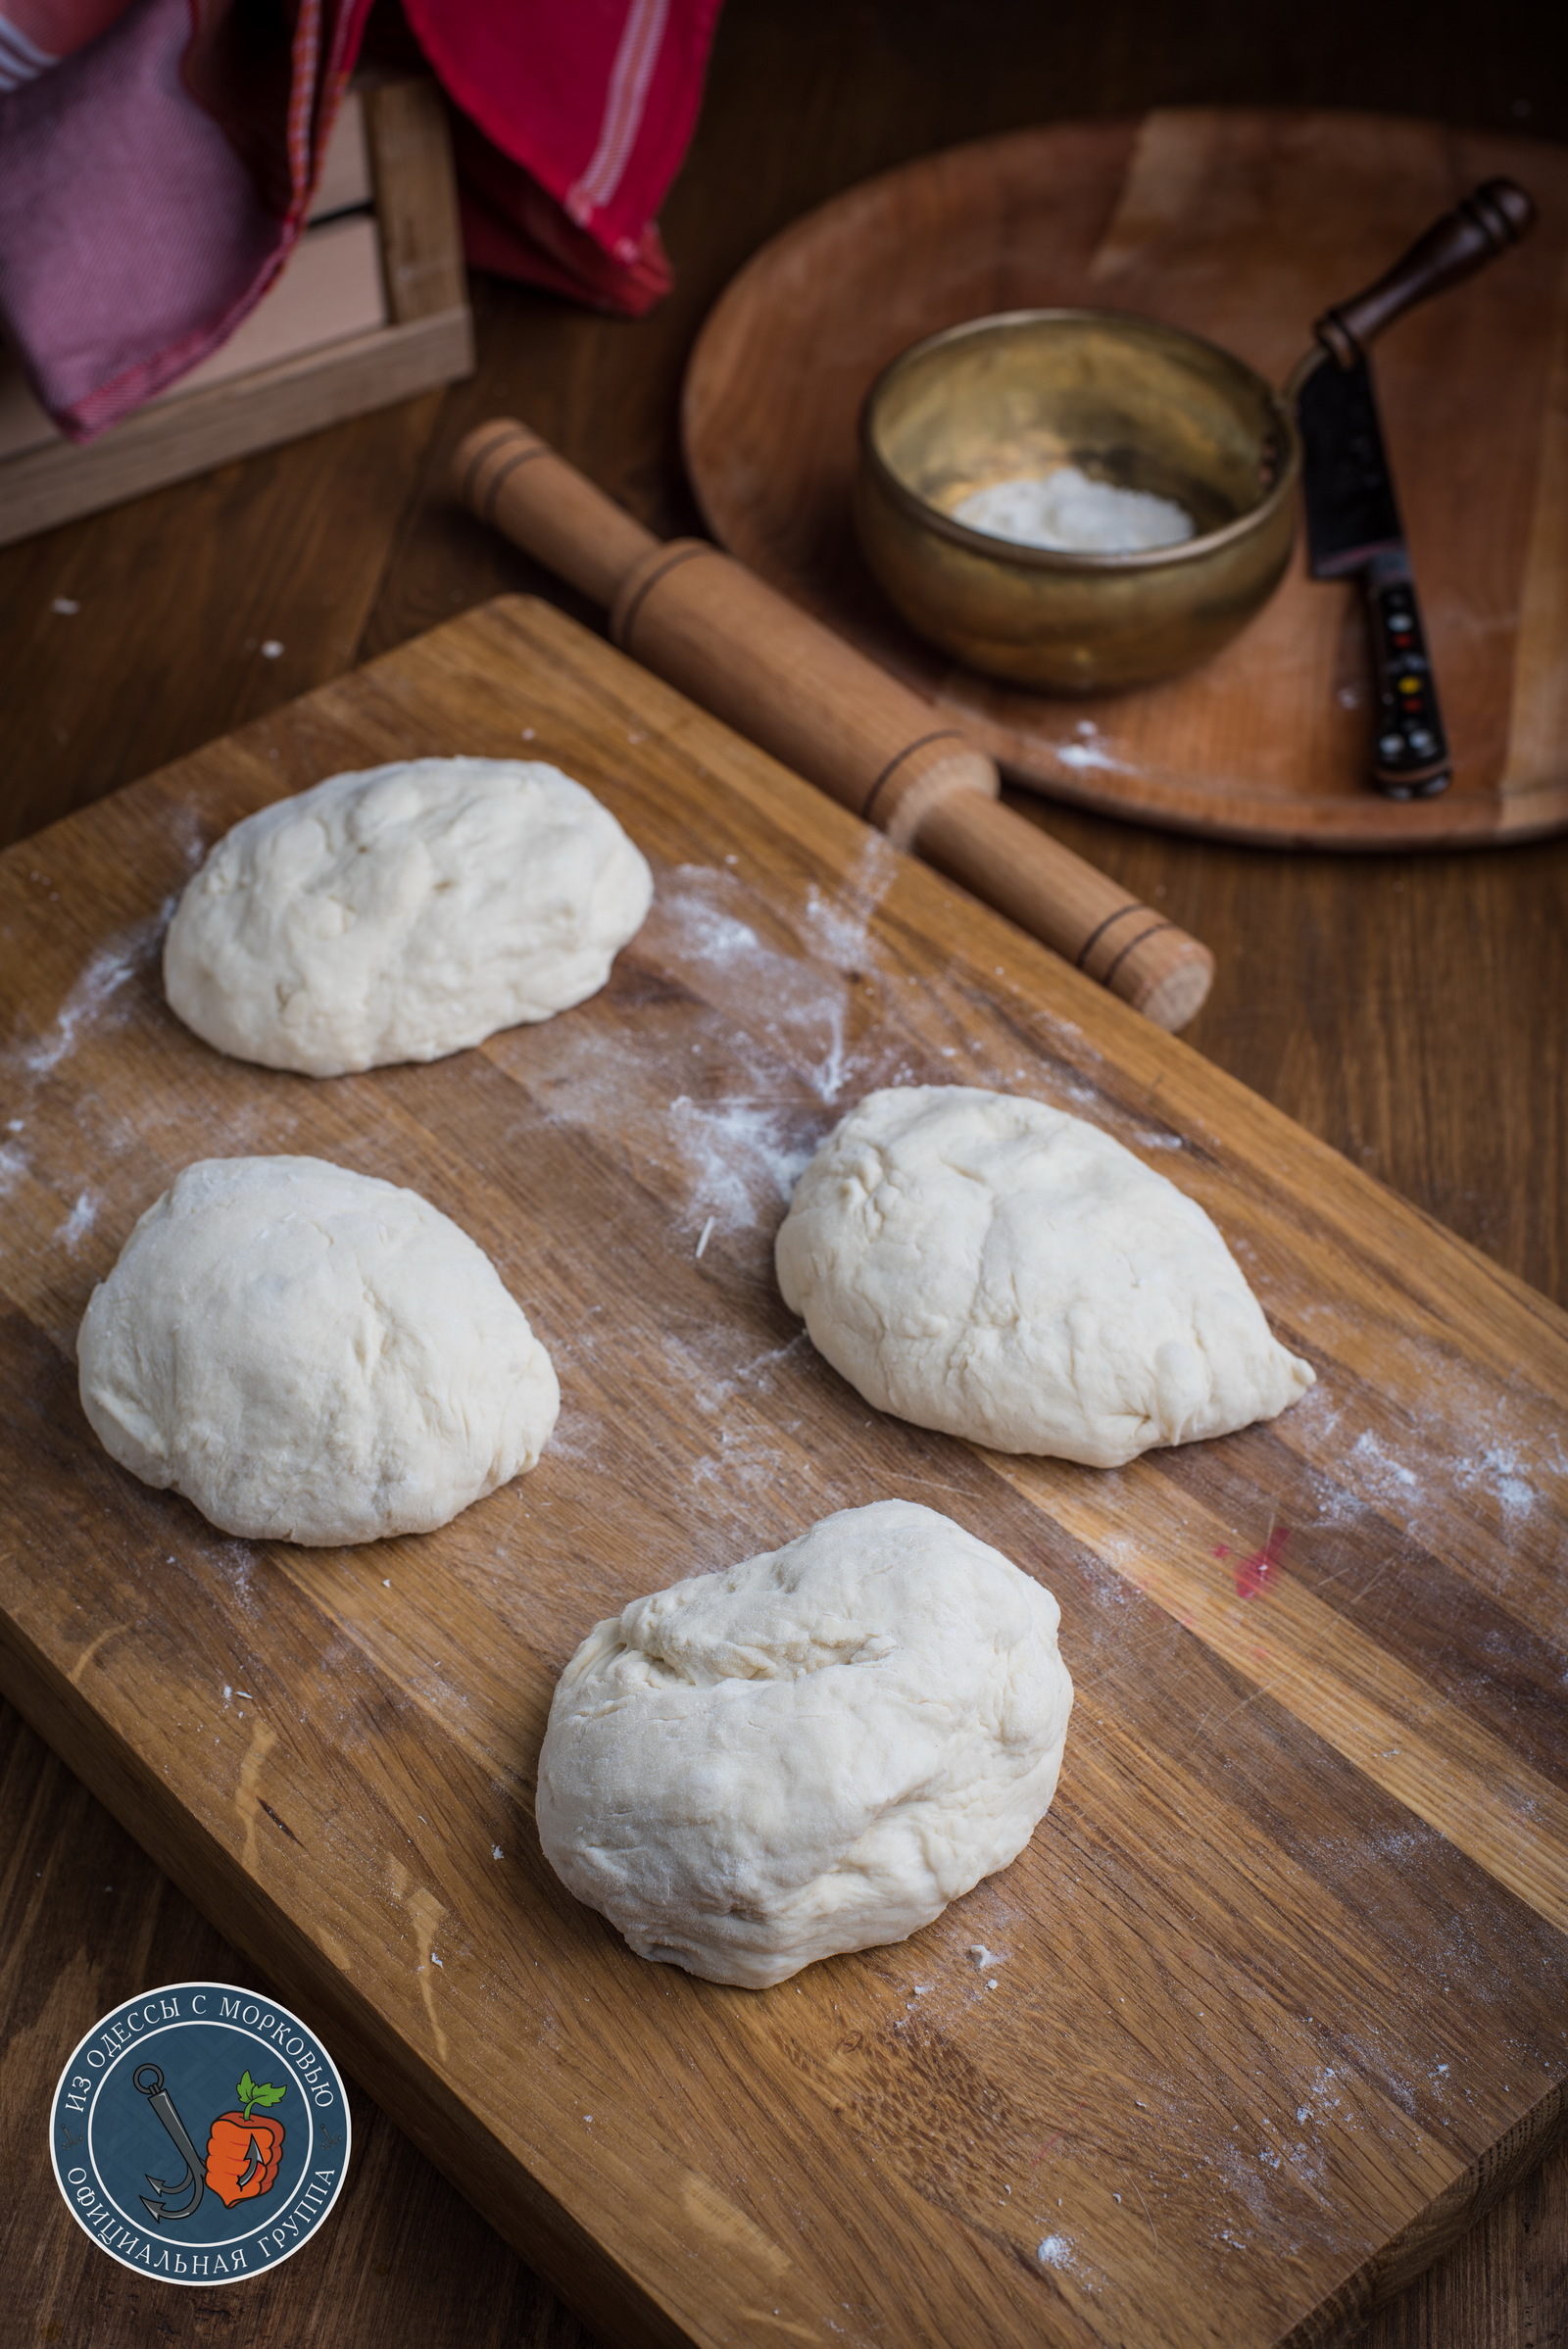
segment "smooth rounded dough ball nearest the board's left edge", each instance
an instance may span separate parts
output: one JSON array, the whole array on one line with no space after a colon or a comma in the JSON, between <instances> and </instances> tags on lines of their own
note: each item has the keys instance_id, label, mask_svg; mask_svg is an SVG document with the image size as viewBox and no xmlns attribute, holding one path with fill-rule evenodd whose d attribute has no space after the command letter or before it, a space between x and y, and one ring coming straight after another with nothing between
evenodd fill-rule
<instances>
[{"instance_id":1,"label":"smooth rounded dough ball nearest the board's left edge","mask_svg":"<svg viewBox=\"0 0 1568 2349\"><path fill-rule=\"evenodd\" d=\"M200 1158L77 1337L82 1409L225 1534L427 1534L533 1468L561 1407L495 1266L418 1191L324 1158Z\"/></svg>"}]
</instances>

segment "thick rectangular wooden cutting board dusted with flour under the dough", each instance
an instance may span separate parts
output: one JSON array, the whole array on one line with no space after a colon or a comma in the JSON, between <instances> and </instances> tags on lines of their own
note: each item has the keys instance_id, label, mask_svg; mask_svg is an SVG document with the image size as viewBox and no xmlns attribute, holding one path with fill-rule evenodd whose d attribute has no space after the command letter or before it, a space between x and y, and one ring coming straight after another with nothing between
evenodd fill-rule
<instances>
[{"instance_id":1,"label":"thick rectangular wooden cutting board dusted with flour under the dough","mask_svg":"<svg viewBox=\"0 0 1568 2349\"><path fill-rule=\"evenodd\" d=\"M580 775L657 869L610 987L307 1078L167 1012L239 815L401 752ZM0 860L7 1694L615 2340L1329 2340L1568 2081L1568 1325L556 611L507 599ZM880 1083L1082 1111L1218 1219L1319 1386L1115 1475L869 1412L779 1304L793 1167ZM493 1254L563 1384L441 1534L230 1541L92 1440L73 1334L190 1158L315 1151ZM906 1494L1056 1590L1023 1858L768 1994L634 1959L530 1823L589 1626ZM70 1983L52 2025L82 2027Z\"/></svg>"}]
</instances>

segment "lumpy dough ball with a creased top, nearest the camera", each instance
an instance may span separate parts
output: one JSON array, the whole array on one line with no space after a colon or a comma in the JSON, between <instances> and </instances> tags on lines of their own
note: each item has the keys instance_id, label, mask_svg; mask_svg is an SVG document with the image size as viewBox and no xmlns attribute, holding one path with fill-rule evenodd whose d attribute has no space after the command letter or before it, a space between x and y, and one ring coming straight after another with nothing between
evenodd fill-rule
<instances>
[{"instance_id":1,"label":"lumpy dough ball with a creased top, nearest the camera","mask_svg":"<svg viewBox=\"0 0 1568 2349\"><path fill-rule=\"evenodd\" d=\"M1073 1705L1059 1607L913 1501L636 1600L561 1675L538 1823L638 1957L765 1990L1019 1856Z\"/></svg>"}]
</instances>

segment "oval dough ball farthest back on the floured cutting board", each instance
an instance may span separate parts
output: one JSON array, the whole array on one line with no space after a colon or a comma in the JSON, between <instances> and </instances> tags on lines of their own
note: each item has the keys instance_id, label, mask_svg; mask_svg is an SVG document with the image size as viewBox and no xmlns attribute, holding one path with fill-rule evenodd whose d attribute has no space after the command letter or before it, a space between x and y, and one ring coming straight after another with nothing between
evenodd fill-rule
<instances>
[{"instance_id":1,"label":"oval dough ball farthest back on the floured cutting board","mask_svg":"<svg viewBox=\"0 0 1568 2349\"><path fill-rule=\"evenodd\" d=\"M343 1076L441 1059L596 994L653 876L556 766L408 759L225 832L164 942L164 994L221 1052Z\"/></svg>"}]
</instances>

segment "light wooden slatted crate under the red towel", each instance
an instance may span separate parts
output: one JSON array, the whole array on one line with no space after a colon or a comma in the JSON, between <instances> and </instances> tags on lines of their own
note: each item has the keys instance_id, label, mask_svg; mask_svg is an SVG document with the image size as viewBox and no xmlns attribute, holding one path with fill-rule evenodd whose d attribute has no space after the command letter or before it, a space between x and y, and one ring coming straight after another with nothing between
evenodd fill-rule
<instances>
[{"instance_id":1,"label":"light wooden slatted crate under the red towel","mask_svg":"<svg viewBox=\"0 0 1568 2349\"><path fill-rule=\"evenodd\" d=\"M350 92L310 221L265 301L146 406L63 439L0 373L0 545L472 373L474 327L434 82Z\"/></svg>"}]
</instances>

